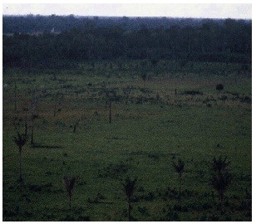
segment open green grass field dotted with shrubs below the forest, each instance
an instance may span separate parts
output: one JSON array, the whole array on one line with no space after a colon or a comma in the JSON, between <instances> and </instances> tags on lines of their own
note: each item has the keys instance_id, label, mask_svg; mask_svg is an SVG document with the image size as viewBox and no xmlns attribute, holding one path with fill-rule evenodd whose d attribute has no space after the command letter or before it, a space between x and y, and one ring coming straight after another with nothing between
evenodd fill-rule
<instances>
[{"instance_id":1,"label":"open green grass field dotted with shrubs below the forest","mask_svg":"<svg viewBox=\"0 0 256 224\"><path fill-rule=\"evenodd\" d=\"M214 63L175 69L160 61L144 82L136 71L140 61L121 69L109 65L3 72L3 221L127 221L121 185L127 176L138 178L131 210L136 221L251 221L250 72ZM219 83L224 90L215 89ZM111 124L106 90L115 91ZM15 125L24 132L26 113L19 183L13 136ZM231 162L232 175L223 213L209 184L219 155ZM178 158L185 161L181 207L172 166ZM64 176L76 177L71 212Z\"/></svg>"}]
</instances>

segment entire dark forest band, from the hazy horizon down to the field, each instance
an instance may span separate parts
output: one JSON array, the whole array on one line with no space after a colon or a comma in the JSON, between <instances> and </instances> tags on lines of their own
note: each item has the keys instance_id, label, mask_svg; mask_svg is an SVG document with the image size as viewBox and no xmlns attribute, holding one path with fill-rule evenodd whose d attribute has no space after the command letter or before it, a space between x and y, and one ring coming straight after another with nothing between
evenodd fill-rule
<instances>
[{"instance_id":1,"label":"entire dark forest band, from the hazy horizon down to the field","mask_svg":"<svg viewBox=\"0 0 256 224\"><path fill-rule=\"evenodd\" d=\"M3 17L3 65L150 60L251 63L244 20L129 17Z\"/></svg>"}]
</instances>

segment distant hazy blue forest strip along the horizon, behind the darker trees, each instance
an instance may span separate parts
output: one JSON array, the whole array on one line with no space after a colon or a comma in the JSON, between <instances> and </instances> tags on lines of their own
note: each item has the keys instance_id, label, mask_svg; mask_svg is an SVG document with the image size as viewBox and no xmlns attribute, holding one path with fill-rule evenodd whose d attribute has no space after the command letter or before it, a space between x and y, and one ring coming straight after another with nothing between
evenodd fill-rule
<instances>
[{"instance_id":1,"label":"distant hazy blue forest strip along the horizon, behind the darker trees","mask_svg":"<svg viewBox=\"0 0 256 224\"><path fill-rule=\"evenodd\" d=\"M43 32L55 28L58 32L70 30L73 27L123 27L126 30L136 30L140 27L199 27L205 22L214 21L223 25L224 19L178 18L178 17L81 17L81 16L51 16L33 15L2 17L3 33ZM238 20L251 23L251 20Z\"/></svg>"}]
</instances>

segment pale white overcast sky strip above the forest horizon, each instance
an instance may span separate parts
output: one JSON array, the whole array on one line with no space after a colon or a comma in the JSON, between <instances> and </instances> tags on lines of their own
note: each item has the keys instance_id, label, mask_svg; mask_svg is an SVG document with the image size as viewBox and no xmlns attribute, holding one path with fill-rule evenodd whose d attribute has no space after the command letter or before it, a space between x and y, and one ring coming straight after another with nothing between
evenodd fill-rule
<instances>
[{"instance_id":1,"label":"pale white overcast sky strip above the forest horizon","mask_svg":"<svg viewBox=\"0 0 256 224\"><path fill-rule=\"evenodd\" d=\"M209 18L252 18L251 4L2 4L3 15L79 15L118 17L209 17Z\"/></svg>"}]
</instances>

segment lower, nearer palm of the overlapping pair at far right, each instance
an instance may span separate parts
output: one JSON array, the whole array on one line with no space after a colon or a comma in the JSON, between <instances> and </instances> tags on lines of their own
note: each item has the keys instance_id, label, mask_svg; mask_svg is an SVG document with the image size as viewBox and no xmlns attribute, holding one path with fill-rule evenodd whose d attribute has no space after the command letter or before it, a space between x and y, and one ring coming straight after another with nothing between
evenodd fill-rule
<instances>
[{"instance_id":1,"label":"lower, nearer palm of the overlapping pair at far right","mask_svg":"<svg viewBox=\"0 0 256 224\"><path fill-rule=\"evenodd\" d=\"M228 172L214 173L214 176L213 178L211 178L210 183L219 194L219 206L220 206L220 212L222 214L224 192L227 191L229 184L231 183L231 174Z\"/></svg>"}]
</instances>

